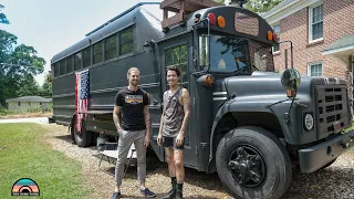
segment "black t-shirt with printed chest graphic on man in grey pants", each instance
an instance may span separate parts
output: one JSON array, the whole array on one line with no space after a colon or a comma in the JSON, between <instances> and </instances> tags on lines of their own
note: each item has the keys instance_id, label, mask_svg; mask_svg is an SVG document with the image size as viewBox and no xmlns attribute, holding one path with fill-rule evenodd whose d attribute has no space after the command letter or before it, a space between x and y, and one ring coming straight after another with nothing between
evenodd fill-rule
<instances>
[{"instance_id":1,"label":"black t-shirt with printed chest graphic on man in grey pants","mask_svg":"<svg viewBox=\"0 0 354 199\"><path fill-rule=\"evenodd\" d=\"M122 107L121 125L124 130L146 129L144 118L144 106L148 105L146 92L142 88L134 92L125 87L115 96L115 105Z\"/></svg>"}]
</instances>

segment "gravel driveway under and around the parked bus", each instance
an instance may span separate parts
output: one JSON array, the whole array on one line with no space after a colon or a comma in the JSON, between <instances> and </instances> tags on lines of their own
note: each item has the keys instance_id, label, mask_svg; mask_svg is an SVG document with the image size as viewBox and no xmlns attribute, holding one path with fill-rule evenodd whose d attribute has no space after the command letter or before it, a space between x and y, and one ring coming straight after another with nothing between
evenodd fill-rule
<instances>
[{"instance_id":1,"label":"gravel driveway under and around the parked bus","mask_svg":"<svg viewBox=\"0 0 354 199\"><path fill-rule=\"evenodd\" d=\"M93 190L88 198L110 198L114 190L114 165L102 161L102 169L98 170L100 159L95 156L95 147L80 148L71 143L67 128L55 124L44 124L49 133L45 135L48 143L55 150L62 151L67 157L82 163L83 175ZM129 167L122 185L124 198L142 198L137 191L136 168ZM146 185L162 198L169 190L170 179L166 164L158 164L154 170L148 170ZM222 198L230 199L216 174L206 175L192 169L186 169L186 182L184 186L184 197L188 198ZM335 164L321 171L303 175L293 172L293 180L283 199L304 198L354 198L354 153L341 156Z\"/></svg>"}]
</instances>

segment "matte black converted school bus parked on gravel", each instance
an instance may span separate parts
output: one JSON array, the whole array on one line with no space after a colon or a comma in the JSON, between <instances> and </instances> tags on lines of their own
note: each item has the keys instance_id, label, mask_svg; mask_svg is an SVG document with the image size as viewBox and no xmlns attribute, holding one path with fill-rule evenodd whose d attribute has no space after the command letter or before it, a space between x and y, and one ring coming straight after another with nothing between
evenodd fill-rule
<instances>
[{"instance_id":1,"label":"matte black converted school bus parked on gravel","mask_svg":"<svg viewBox=\"0 0 354 199\"><path fill-rule=\"evenodd\" d=\"M258 14L211 7L163 29L146 6L160 4L138 3L52 59L52 119L69 126L80 147L117 136L114 97L135 66L150 95L149 149L165 161L156 138L169 65L180 69L191 97L185 167L218 172L236 198L280 198L294 166L313 172L353 146L354 132L344 130L352 125L346 82L275 73L277 34ZM76 81L80 72L86 82ZM80 100L77 84L86 86Z\"/></svg>"}]
</instances>

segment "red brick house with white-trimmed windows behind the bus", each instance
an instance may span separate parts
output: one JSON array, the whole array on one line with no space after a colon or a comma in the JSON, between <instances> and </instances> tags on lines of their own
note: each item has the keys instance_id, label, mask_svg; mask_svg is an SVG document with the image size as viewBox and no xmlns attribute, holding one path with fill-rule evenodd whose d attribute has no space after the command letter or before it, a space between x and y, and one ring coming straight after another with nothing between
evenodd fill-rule
<instances>
[{"instance_id":1,"label":"red brick house with white-trimmed windows behind the bus","mask_svg":"<svg viewBox=\"0 0 354 199\"><path fill-rule=\"evenodd\" d=\"M301 75L341 77L353 97L354 0L283 0L262 14L279 35L292 41L293 63ZM273 48L275 70L290 67L290 44Z\"/></svg>"}]
</instances>

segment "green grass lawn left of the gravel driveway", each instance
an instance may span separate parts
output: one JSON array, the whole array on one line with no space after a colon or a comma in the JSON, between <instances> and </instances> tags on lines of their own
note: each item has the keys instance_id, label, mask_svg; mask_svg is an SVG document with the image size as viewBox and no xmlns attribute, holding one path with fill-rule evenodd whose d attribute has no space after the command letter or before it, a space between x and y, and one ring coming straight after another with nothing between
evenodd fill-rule
<instances>
[{"instance_id":1,"label":"green grass lawn left of the gravel driveway","mask_svg":"<svg viewBox=\"0 0 354 199\"><path fill-rule=\"evenodd\" d=\"M0 125L1 199L13 198L12 185L20 178L34 180L40 198L84 198L90 193L82 185L81 165L44 143L44 133L37 124Z\"/></svg>"}]
</instances>

